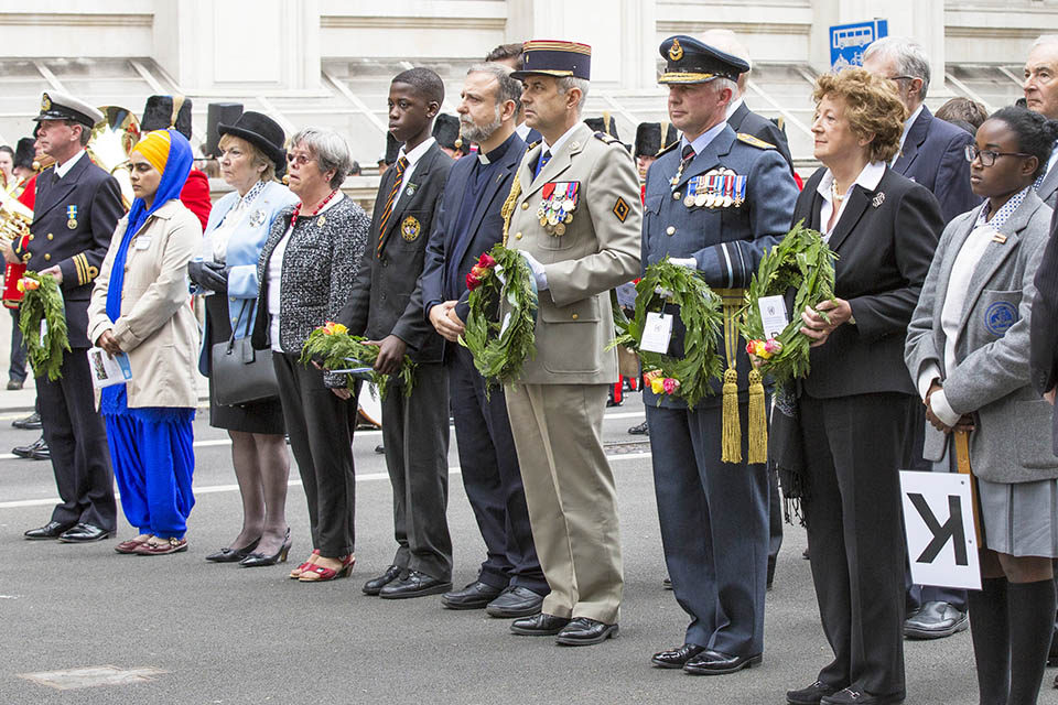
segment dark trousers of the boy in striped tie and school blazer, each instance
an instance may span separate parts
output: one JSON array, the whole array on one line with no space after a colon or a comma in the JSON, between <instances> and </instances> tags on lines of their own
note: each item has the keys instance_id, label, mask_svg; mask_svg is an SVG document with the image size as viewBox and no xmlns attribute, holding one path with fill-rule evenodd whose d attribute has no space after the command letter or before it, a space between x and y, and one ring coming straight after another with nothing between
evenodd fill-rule
<instances>
[{"instance_id":1,"label":"dark trousers of the boy in striped tie and school blazer","mask_svg":"<svg viewBox=\"0 0 1058 705\"><path fill-rule=\"evenodd\" d=\"M449 507L449 381L420 362L411 397L393 384L382 400L382 444L393 486L393 565L452 579Z\"/></svg>"}]
</instances>

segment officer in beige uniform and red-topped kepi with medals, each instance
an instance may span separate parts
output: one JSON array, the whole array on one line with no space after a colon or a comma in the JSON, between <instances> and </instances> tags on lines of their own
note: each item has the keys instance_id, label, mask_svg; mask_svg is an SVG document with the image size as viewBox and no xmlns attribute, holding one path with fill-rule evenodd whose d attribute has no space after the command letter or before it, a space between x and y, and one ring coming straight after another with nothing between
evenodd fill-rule
<instances>
[{"instance_id":1,"label":"officer in beige uniform and red-topped kepi with medals","mask_svg":"<svg viewBox=\"0 0 1058 705\"><path fill-rule=\"evenodd\" d=\"M521 100L543 137L511 186L507 246L521 250L540 302L537 357L507 391L537 554L551 593L519 634L592 644L617 634L623 587L617 497L603 454L606 389L617 379L609 290L639 272L643 210L620 142L581 122L591 47L526 43Z\"/></svg>"}]
</instances>

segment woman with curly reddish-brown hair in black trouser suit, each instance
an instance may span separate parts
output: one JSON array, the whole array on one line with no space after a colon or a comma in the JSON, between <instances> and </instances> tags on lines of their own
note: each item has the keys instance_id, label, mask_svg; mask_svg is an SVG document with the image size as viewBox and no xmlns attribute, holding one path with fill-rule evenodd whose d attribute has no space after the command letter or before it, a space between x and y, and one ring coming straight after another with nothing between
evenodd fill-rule
<instances>
[{"instance_id":1,"label":"woman with curly reddish-brown hair in black trouser suit","mask_svg":"<svg viewBox=\"0 0 1058 705\"><path fill-rule=\"evenodd\" d=\"M790 703L899 703L904 686L904 530L899 466L915 387L904 336L943 229L926 188L889 170L905 109L860 68L816 82L812 133L824 167L794 223L838 253L835 296L800 312L811 372L778 419L775 455L801 470L812 579L834 660ZM790 451L796 459L790 462Z\"/></svg>"}]
</instances>

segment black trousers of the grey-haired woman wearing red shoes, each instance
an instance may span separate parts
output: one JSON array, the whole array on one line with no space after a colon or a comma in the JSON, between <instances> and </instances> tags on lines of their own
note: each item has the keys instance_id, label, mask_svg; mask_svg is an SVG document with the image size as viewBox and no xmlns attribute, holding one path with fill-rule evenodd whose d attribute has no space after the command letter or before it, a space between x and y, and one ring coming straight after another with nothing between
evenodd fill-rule
<instances>
[{"instance_id":1,"label":"black trousers of the grey-haired woman wearing red shoes","mask_svg":"<svg viewBox=\"0 0 1058 705\"><path fill-rule=\"evenodd\" d=\"M309 500L312 547L337 558L354 551L356 475L353 430L356 394L348 401L323 383L323 372L298 361L300 355L272 352L290 449Z\"/></svg>"}]
</instances>

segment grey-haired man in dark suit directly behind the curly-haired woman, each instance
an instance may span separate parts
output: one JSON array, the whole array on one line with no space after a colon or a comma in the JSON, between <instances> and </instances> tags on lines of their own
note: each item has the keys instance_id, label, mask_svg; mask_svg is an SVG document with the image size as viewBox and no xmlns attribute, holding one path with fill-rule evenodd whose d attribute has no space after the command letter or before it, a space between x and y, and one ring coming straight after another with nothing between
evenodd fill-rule
<instances>
[{"instance_id":1,"label":"grey-haired man in dark suit directly behind the curly-haired woman","mask_svg":"<svg viewBox=\"0 0 1058 705\"><path fill-rule=\"evenodd\" d=\"M890 164L893 171L932 192L944 223L976 207L981 199L970 189L970 163L965 155L973 135L935 118L922 102L930 79L926 51L907 39L883 37L864 52L863 67L876 76L892 79L900 102L907 108L900 152ZM926 416L921 404L911 405L908 424L905 465L907 469L929 470L932 464L922 459ZM967 628L964 590L911 585L909 573L906 582L905 636L940 639Z\"/></svg>"}]
</instances>

